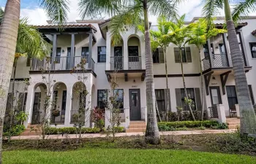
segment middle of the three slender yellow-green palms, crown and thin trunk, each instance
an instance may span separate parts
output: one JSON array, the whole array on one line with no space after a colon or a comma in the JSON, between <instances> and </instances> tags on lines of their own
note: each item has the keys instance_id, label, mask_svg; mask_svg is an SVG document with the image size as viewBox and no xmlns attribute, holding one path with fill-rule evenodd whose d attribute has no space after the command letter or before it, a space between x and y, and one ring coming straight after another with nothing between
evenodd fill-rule
<instances>
[{"instance_id":1,"label":"middle of the three slender yellow-green palms, crown and thin trunk","mask_svg":"<svg viewBox=\"0 0 256 164\"><path fill-rule=\"evenodd\" d=\"M189 95L187 94L187 87L185 83L184 77L184 69L183 69L183 58L182 58L182 48L184 48L185 44L189 42L189 37L192 34L192 28L195 26L194 23L190 23L188 26L184 24L185 15L182 15L176 23L170 22L170 29L167 35L163 36L165 39L170 40L173 44L178 46L179 51L179 58L181 63L181 74L184 86L184 97L185 97L185 104L189 106L189 112L192 116L192 119L195 120L194 114L192 112L192 104L189 99Z\"/></svg>"}]
</instances>

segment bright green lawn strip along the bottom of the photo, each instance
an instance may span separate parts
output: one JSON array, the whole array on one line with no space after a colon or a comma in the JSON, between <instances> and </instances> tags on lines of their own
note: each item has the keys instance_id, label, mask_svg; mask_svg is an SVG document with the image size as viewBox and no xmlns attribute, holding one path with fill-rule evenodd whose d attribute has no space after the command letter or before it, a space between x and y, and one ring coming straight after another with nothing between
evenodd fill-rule
<instances>
[{"instance_id":1,"label":"bright green lawn strip along the bottom of the photo","mask_svg":"<svg viewBox=\"0 0 256 164\"><path fill-rule=\"evenodd\" d=\"M256 163L256 157L162 149L79 149L67 152L15 150L3 153L4 163Z\"/></svg>"}]
</instances>

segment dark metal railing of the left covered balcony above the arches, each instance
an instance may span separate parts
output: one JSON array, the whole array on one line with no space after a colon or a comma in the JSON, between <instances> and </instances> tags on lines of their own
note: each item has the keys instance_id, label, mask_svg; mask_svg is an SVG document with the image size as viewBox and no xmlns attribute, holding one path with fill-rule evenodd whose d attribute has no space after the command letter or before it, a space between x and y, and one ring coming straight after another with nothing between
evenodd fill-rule
<instances>
[{"instance_id":1,"label":"dark metal railing of the left covered balcony above the arches","mask_svg":"<svg viewBox=\"0 0 256 164\"><path fill-rule=\"evenodd\" d=\"M94 60L91 59L91 66L89 66L89 63L87 62L88 56L75 56L75 57L56 57L54 61L50 60L48 61L47 58L44 58L42 60L34 58L32 60L32 66L31 71L42 71L42 70L49 70L50 71L70 71L72 69L80 70L79 64L83 60L83 58L86 60L86 70L94 71Z\"/></svg>"}]
</instances>

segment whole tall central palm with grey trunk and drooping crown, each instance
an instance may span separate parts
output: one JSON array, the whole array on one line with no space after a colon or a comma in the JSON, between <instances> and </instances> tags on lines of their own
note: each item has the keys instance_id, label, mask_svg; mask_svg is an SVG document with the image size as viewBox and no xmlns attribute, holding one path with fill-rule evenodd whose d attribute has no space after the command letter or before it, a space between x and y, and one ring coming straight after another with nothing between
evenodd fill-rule
<instances>
[{"instance_id":1,"label":"whole tall central palm with grey trunk and drooping crown","mask_svg":"<svg viewBox=\"0 0 256 164\"><path fill-rule=\"evenodd\" d=\"M146 128L146 142L159 144L160 136L157 127L157 114L154 93L153 60L151 56L151 42L149 34L148 12L152 15L176 16L176 1L170 0L80 0L80 14L97 15L102 12L116 15L110 23L110 33L117 35L126 31L126 26L135 27L144 20L145 28L145 56L146 56L146 102L148 123Z\"/></svg>"}]
</instances>

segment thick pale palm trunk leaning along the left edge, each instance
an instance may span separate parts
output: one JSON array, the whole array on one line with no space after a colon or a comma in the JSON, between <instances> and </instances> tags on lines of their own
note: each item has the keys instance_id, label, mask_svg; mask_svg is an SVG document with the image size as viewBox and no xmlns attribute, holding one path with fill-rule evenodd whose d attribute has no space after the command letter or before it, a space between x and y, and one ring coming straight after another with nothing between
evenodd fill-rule
<instances>
[{"instance_id":1,"label":"thick pale palm trunk leaning along the left edge","mask_svg":"<svg viewBox=\"0 0 256 164\"><path fill-rule=\"evenodd\" d=\"M7 0L7 4L4 10L4 18L0 28L0 159L2 159L1 146L4 114L7 104L7 95L12 75L12 66L18 36L20 0Z\"/></svg>"}]
</instances>

